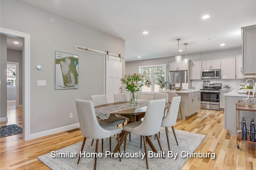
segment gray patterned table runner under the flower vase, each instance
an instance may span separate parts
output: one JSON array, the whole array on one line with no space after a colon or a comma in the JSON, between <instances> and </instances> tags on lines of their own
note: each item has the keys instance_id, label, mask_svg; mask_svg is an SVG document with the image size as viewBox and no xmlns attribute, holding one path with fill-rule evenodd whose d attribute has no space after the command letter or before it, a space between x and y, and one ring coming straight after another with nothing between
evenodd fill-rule
<instances>
[{"instance_id":1,"label":"gray patterned table runner under the flower vase","mask_svg":"<svg viewBox=\"0 0 256 170\"><path fill-rule=\"evenodd\" d=\"M118 111L122 110L127 110L127 109L133 109L136 107L142 107L142 106L147 106L148 105L148 100L140 101L136 106L130 106L129 103L124 103L124 104L117 104L113 106L106 106L106 107L98 107L95 109L95 113L98 117L102 119L107 119L110 115L110 113L115 113Z\"/></svg>"}]
</instances>

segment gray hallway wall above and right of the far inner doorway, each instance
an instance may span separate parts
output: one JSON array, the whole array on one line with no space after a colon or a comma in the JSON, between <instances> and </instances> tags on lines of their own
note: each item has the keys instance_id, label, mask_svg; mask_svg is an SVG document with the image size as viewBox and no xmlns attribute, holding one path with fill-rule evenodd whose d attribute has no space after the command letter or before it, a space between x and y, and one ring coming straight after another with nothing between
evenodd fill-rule
<instances>
[{"instance_id":1,"label":"gray hallway wall above and right of the far inner doorway","mask_svg":"<svg viewBox=\"0 0 256 170\"><path fill-rule=\"evenodd\" d=\"M19 63L19 105L22 105L22 51L7 49L7 61Z\"/></svg>"}]
</instances>

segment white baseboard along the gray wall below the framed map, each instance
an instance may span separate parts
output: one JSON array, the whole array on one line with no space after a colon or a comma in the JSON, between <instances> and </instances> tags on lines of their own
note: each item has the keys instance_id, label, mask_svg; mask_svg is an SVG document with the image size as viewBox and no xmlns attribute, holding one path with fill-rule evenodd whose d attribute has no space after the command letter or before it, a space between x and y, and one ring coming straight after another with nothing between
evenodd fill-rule
<instances>
[{"instance_id":1,"label":"white baseboard along the gray wall below the framed map","mask_svg":"<svg viewBox=\"0 0 256 170\"><path fill-rule=\"evenodd\" d=\"M51 130L47 130L47 131L33 133L33 134L30 134L29 140L36 139L36 138L39 138L39 137L44 137L44 136L47 136L47 135L52 135L54 133L68 131L68 130L75 129L75 128L78 128L78 127L80 127L80 124L76 123L76 124L73 124L73 125L58 127L56 129L51 129Z\"/></svg>"}]
</instances>

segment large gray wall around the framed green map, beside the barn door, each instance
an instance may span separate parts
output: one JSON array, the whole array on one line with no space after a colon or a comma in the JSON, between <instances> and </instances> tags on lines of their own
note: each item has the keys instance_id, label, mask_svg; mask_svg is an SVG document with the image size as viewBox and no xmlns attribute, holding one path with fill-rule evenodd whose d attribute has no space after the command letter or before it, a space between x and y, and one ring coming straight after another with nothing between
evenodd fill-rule
<instances>
[{"instance_id":1,"label":"large gray wall around the framed green map, beside the barn door","mask_svg":"<svg viewBox=\"0 0 256 170\"><path fill-rule=\"evenodd\" d=\"M75 99L91 100L103 85L94 83L102 74L98 58L76 51L76 45L124 55L125 41L16 0L0 3L1 27L30 34L31 134L78 123ZM78 90L54 90L54 51L79 56ZM37 64L41 70L36 70ZM37 86L37 80L46 80L46 86ZM69 113L74 113L72 119Z\"/></svg>"}]
</instances>

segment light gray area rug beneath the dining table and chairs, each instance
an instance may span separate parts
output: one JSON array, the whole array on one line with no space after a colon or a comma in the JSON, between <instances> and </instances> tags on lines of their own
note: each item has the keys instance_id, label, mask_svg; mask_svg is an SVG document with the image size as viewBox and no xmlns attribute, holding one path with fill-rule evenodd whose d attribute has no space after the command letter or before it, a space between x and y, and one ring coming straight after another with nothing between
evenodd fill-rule
<instances>
[{"instance_id":1,"label":"light gray area rug beneath the dining table and chairs","mask_svg":"<svg viewBox=\"0 0 256 170\"><path fill-rule=\"evenodd\" d=\"M193 153L200 143L204 140L206 135L190 133L181 130L175 130L176 137L178 140L178 146L176 144L172 129L169 129L169 138L170 138L170 149L171 152L168 153L168 144L166 141L166 133L165 129L161 128L160 131L160 143L162 145L162 149L165 152L165 158L162 158L160 152L155 153L155 155L151 154L152 158L148 158L148 164L150 170L180 170L184 164L187 162L190 156L187 156L187 153ZM116 146L116 140L112 137L112 150ZM128 138L127 138L128 139ZM156 147L157 150L160 150L157 140L154 140L154 137L151 138L152 143ZM122 157L122 161L119 162L118 157L110 156L106 157L109 150L109 140L104 139L104 150L102 153L102 157L97 158L97 166L98 170L138 170L138 169L146 169L146 159L142 158L142 154L144 154L144 147L142 144L142 149L140 149L140 136L131 134L131 141L127 140L126 143L126 155ZM46 166L48 166L52 170L91 170L94 168L94 157L90 157L90 153L95 152L96 142L91 146L92 139L86 140L86 144L84 146L84 151L86 157L81 157L79 164L77 164L78 156L80 156L80 150L82 146L82 142L76 143L74 145L70 145L68 147L62 148L60 150L52 151L48 154L39 156L38 159L43 162ZM143 140L142 140L143 143ZM121 153L123 153L124 143L121 146ZM101 152L101 142L99 142L98 152ZM150 147L147 145L148 156ZM152 152L152 151L151 151ZM77 153L77 154L76 154ZM84 153L84 152L82 152ZM127 154L128 153L128 154ZM68 156L74 156L75 158L70 158ZM174 157L176 154L176 157ZM63 155L63 157L61 156ZM64 156L65 155L65 156ZM136 157L137 155L137 157ZM98 155L100 156L100 155Z\"/></svg>"}]
</instances>

